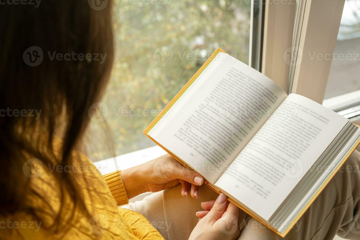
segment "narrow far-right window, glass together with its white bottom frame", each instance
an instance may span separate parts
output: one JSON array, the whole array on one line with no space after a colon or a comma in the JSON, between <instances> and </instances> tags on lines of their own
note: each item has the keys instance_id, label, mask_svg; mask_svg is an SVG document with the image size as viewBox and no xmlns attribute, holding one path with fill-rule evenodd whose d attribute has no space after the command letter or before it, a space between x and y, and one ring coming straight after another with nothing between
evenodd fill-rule
<instances>
[{"instance_id":1,"label":"narrow far-right window, glass together with its white bottom frame","mask_svg":"<svg viewBox=\"0 0 360 240\"><path fill-rule=\"evenodd\" d=\"M323 105L360 124L360 2L346 0Z\"/></svg>"}]
</instances>

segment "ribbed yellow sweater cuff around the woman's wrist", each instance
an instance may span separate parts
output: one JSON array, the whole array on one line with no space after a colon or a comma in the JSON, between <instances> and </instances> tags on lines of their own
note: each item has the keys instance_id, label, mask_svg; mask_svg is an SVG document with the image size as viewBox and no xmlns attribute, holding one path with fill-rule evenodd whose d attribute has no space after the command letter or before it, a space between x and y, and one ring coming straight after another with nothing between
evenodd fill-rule
<instances>
[{"instance_id":1,"label":"ribbed yellow sweater cuff around the woman's wrist","mask_svg":"<svg viewBox=\"0 0 360 240\"><path fill-rule=\"evenodd\" d=\"M127 193L121 179L121 170L103 176L118 206L128 204Z\"/></svg>"}]
</instances>

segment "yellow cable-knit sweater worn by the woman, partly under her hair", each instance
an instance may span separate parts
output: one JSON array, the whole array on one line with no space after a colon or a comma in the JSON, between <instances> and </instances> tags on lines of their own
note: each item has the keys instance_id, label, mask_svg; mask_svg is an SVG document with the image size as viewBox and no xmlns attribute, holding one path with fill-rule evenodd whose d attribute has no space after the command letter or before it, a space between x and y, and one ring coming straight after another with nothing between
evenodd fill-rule
<instances>
[{"instance_id":1,"label":"yellow cable-knit sweater worn by the woman, partly under her hair","mask_svg":"<svg viewBox=\"0 0 360 240\"><path fill-rule=\"evenodd\" d=\"M84 155L76 156L72 166L63 169L30 160L30 164L34 164L34 161L39 163L32 165L39 172L29 175L31 187L49 205L40 201L37 194L24 196L31 206L38 209L36 213L42 221L35 221L31 214L21 212L15 216L0 216L0 239L163 239L140 213L118 207L128 203L120 171L102 176ZM24 167L23 170L27 175L27 168ZM51 171L77 172L77 182L83 189L85 204L91 214L89 218L77 208L66 233L61 235L51 234L44 228L53 221L60 208L60 190L56 187ZM66 213L70 212L68 205L63 208Z\"/></svg>"}]
</instances>

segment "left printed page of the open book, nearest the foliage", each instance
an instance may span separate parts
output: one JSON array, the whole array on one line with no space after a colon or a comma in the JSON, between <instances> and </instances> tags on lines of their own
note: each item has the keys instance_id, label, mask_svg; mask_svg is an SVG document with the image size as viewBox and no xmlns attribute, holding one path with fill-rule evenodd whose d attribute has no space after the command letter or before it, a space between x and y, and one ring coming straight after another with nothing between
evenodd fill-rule
<instances>
[{"instance_id":1,"label":"left printed page of the open book, nearest the foliage","mask_svg":"<svg viewBox=\"0 0 360 240\"><path fill-rule=\"evenodd\" d=\"M287 97L255 69L217 57L149 132L212 184Z\"/></svg>"}]
</instances>

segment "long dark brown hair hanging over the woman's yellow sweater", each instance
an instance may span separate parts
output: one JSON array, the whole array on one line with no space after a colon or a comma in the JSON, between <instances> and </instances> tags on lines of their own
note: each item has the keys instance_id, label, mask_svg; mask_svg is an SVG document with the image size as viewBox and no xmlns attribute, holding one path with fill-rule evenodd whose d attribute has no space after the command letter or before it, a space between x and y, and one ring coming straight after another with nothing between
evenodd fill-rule
<instances>
[{"instance_id":1,"label":"long dark brown hair hanging over the woman's yellow sweater","mask_svg":"<svg viewBox=\"0 0 360 240\"><path fill-rule=\"evenodd\" d=\"M45 164L71 165L90 120L88 109L102 95L112 67L112 1L105 1L104 9L91 0L10 1L0 7L0 216L25 211L38 217L27 205L28 194L37 194L23 172L28 154ZM96 54L106 54L104 61ZM58 155L55 134L63 143ZM65 193L73 212L86 207L73 175L54 174L62 194L50 226L57 232L71 219L63 219Z\"/></svg>"}]
</instances>

